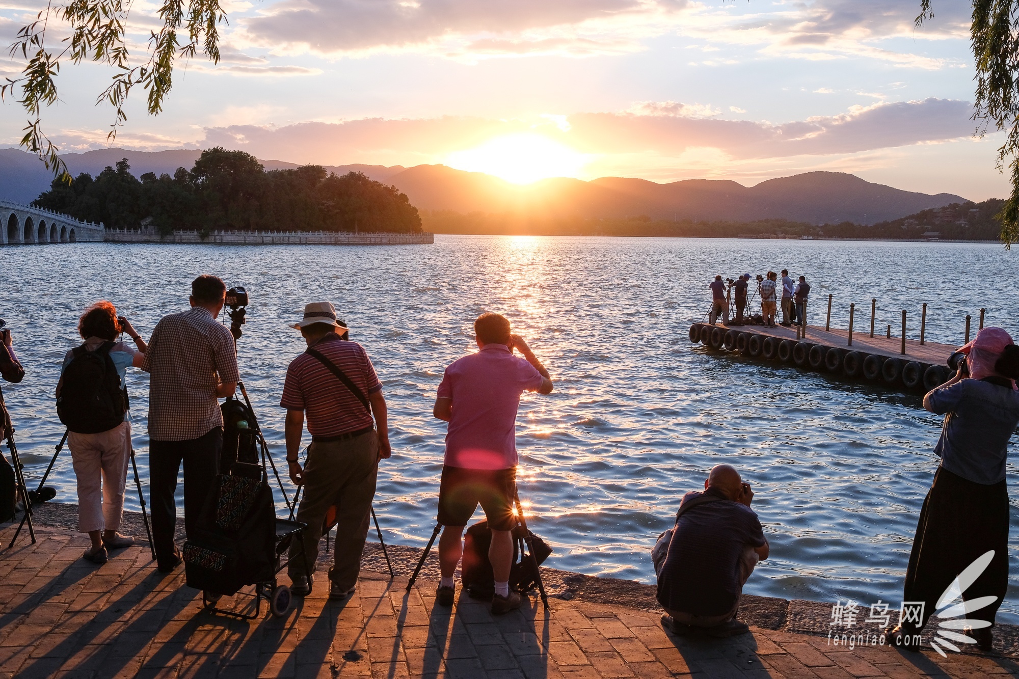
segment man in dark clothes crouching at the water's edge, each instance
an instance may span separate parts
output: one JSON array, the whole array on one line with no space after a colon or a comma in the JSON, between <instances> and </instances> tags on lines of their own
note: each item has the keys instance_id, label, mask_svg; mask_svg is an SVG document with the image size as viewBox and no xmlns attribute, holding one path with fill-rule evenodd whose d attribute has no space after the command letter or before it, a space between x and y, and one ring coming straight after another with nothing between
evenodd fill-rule
<instances>
[{"instance_id":1,"label":"man in dark clothes crouching at the water's edge","mask_svg":"<svg viewBox=\"0 0 1019 679\"><path fill-rule=\"evenodd\" d=\"M768 543L754 493L730 465L716 465L704 491L691 490L680 504L676 526L654 545L661 626L677 634L700 628L710 636L743 634L736 620L740 595L754 566L767 559Z\"/></svg>"}]
</instances>

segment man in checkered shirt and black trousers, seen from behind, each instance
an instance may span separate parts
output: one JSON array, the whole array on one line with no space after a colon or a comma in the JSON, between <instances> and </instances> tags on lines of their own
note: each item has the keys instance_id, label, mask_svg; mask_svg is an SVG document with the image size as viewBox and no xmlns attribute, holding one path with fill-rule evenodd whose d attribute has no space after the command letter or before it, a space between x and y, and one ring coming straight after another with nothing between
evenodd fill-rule
<instances>
[{"instance_id":1,"label":"man in checkered shirt and black trousers, seen from behind","mask_svg":"<svg viewBox=\"0 0 1019 679\"><path fill-rule=\"evenodd\" d=\"M193 534L202 505L219 473L223 416L219 399L233 396L239 380L230 330L216 320L226 285L212 275L192 282L187 311L164 316L152 331L142 370L149 387L149 473L152 540L156 563L167 573L180 562L173 542L177 508L173 493L184 466L184 528Z\"/></svg>"}]
</instances>

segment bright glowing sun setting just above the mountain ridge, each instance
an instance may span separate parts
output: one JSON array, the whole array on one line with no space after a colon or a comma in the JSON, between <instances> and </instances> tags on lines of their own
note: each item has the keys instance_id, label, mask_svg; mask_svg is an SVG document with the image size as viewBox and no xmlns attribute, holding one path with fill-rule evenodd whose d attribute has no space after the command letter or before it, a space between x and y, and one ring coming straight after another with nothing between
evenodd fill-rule
<instances>
[{"instance_id":1,"label":"bright glowing sun setting just above the mountain ridge","mask_svg":"<svg viewBox=\"0 0 1019 679\"><path fill-rule=\"evenodd\" d=\"M576 176L588 159L568 146L534 134L507 135L480 146L454 151L445 164L469 172L485 172L514 184L551 176Z\"/></svg>"}]
</instances>

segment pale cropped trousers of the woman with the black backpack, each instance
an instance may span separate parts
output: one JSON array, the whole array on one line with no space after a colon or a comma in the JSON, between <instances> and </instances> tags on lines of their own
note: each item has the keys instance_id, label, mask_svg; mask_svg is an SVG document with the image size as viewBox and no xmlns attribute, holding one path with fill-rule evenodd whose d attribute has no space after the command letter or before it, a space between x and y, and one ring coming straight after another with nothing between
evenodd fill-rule
<instances>
[{"instance_id":1,"label":"pale cropped trousers of the woman with the black backpack","mask_svg":"<svg viewBox=\"0 0 1019 679\"><path fill-rule=\"evenodd\" d=\"M130 422L94 434L71 431L67 446L77 476L78 530L116 530L124 511Z\"/></svg>"}]
</instances>

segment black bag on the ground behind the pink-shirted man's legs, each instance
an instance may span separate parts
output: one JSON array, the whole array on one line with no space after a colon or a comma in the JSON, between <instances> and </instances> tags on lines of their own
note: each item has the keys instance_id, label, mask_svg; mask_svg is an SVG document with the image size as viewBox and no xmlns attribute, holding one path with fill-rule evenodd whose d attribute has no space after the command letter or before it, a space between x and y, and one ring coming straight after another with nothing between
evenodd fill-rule
<instances>
[{"instance_id":1,"label":"black bag on the ground behind the pink-shirted man's legs","mask_svg":"<svg viewBox=\"0 0 1019 679\"><path fill-rule=\"evenodd\" d=\"M509 567L509 588L528 591L538 583L534 562L526 553L525 537L530 536L534 545L534 556L538 564L544 563L552 547L530 530L518 524L513 529L513 565ZM488 521L479 521L467 529L464 536L464 559L461 562L461 580L472 598L490 599L495 593L495 578L492 576L492 562L488 560L488 546L492 542L492 531Z\"/></svg>"}]
</instances>

